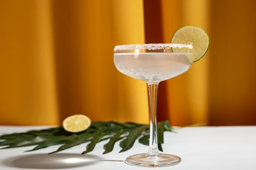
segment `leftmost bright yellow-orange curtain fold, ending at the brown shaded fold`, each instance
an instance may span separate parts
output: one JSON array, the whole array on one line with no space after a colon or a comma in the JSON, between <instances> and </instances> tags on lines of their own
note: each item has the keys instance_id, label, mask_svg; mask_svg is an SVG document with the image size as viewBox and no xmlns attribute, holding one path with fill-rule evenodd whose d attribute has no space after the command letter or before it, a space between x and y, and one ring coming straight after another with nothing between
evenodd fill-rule
<instances>
[{"instance_id":1,"label":"leftmost bright yellow-orange curtain fold, ending at the brown shaded fold","mask_svg":"<svg viewBox=\"0 0 256 170\"><path fill-rule=\"evenodd\" d=\"M56 124L50 1L1 1L0 23L0 124Z\"/></svg>"}]
</instances>

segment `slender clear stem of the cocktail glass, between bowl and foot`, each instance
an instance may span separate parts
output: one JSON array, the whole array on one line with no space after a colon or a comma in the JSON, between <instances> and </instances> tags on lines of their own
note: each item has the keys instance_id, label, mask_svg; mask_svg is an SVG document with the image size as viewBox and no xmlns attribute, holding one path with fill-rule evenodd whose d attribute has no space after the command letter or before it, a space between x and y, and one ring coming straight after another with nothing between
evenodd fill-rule
<instances>
[{"instance_id":1,"label":"slender clear stem of the cocktail glass, between bowl and foot","mask_svg":"<svg viewBox=\"0 0 256 170\"><path fill-rule=\"evenodd\" d=\"M148 84L149 106L150 106L150 136L148 155L159 155L157 142L157 91L158 84Z\"/></svg>"}]
</instances>

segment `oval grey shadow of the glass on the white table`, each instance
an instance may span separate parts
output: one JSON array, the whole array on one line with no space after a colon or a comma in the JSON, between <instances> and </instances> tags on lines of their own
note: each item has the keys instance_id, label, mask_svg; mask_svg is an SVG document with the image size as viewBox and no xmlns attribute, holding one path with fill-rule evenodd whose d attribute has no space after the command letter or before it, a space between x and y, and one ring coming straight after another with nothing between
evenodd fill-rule
<instances>
[{"instance_id":1,"label":"oval grey shadow of the glass on the white table","mask_svg":"<svg viewBox=\"0 0 256 170\"><path fill-rule=\"evenodd\" d=\"M95 155L78 155L69 153L56 154L31 154L18 157L10 157L1 163L5 166L16 168L37 168L37 169L61 169L86 166L103 160ZM121 161L121 160L120 160Z\"/></svg>"}]
</instances>

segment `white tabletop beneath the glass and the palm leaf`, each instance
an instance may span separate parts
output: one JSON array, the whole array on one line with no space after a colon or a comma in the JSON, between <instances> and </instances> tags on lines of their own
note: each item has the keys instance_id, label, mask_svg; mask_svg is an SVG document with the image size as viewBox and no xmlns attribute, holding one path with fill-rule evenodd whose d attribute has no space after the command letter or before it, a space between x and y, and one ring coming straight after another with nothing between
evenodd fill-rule
<instances>
[{"instance_id":1,"label":"white tabletop beneath the glass and the palm leaf","mask_svg":"<svg viewBox=\"0 0 256 170\"><path fill-rule=\"evenodd\" d=\"M49 126L0 126L0 135L27 130L46 129ZM24 152L34 146L0 150L0 170L146 170L124 163L130 155L147 152L139 144L119 153L104 152L106 141L96 145L92 152L81 155L86 144L47 155L59 146ZM162 167L162 170L256 170L256 126L186 127L164 133L164 153L181 157L180 164ZM3 147L1 147L3 148Z\"/></svg>"}]
</instances>

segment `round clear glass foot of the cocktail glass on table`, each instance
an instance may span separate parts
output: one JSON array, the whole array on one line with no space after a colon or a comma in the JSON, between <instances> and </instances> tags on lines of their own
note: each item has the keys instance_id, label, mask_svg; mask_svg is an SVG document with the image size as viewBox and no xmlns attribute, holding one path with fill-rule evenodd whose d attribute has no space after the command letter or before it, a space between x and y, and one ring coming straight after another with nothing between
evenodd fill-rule
<instances>
[{"instance_id":1,"label":"round clear glass foot of the cocktail glass on table","mask_svg":"<svg viewBox=\"0 0 256 170\"><path fill-rule=\"evenodd\" d=\"M168 154L159 154L157 156L149 156L148 154L132 155L124 161L133 166L140 167L164 167L179 164L180 157Z\"/></svg>"}]
</instances>

